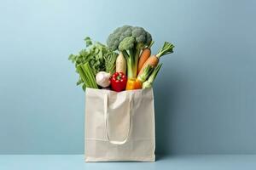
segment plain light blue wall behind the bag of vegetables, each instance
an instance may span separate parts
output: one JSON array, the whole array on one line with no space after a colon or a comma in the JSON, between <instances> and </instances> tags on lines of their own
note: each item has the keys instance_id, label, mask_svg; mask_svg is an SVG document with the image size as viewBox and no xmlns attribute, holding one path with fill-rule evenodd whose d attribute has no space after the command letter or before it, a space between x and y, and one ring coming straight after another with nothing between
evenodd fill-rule
<instances>
[{"instance_id":1,"label":"plain light blue wall behind the bag of vegetables","mask_svg":"<svg viewBox=\"0 0 256 170\"><path fill-rule=\"evenodd\" d=\"M256 1L1 1L0 153L83 153L83 38L143 26L175 53L154 84L157 151L256 153Z\"/></svg>"}]
</instances>

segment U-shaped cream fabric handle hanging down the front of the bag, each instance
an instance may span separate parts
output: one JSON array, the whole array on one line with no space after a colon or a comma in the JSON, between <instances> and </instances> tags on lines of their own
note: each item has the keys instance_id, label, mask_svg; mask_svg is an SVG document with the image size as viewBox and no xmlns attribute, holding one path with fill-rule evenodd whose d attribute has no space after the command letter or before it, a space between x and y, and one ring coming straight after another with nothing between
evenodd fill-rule
<instances>
[{"instance_id":1,"label":"U-shaped cream fabric handle hanging down the front of the bag","mask_svg":"<svg viewBox=\"0 0 256 170\"><path fill-rule=\"evenodd\" d=\"M129 128L128 132L125 136L124 140L118 141L118 140L111 140L108 135L108 92L104 95L104 121L105 121L105 128L106 128L106 136L108 139L108 142L111 144L125 144L129 138L130 131L131 131L131 93L129 93Z\"/></svg>"}]
</instances>

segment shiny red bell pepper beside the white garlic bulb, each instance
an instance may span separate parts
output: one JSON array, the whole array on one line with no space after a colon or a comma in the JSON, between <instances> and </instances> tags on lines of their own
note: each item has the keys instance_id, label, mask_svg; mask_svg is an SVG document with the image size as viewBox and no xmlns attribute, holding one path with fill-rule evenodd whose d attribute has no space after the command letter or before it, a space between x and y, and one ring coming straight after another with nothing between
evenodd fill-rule
<instances>
[{"instance_id":1,"label":"shiny red bell pepper beside the white garlic bulb","mask_svg":"<svg viewBox=\"0 0 256 170\"><path fill-rule=\"evenodd\" d=\"M111 77L111 88L120 92L123 91L126 87L127 77L123 72L115 72Z\"/></svg>"}]
</instances>

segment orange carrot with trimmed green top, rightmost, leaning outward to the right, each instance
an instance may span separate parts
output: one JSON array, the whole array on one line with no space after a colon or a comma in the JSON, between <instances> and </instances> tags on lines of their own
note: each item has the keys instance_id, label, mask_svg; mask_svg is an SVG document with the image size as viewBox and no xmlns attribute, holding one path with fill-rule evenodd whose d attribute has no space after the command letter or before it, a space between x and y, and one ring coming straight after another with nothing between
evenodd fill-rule
<instances>
[{"instance_id":1,"label":"orange carrot with trimmed green top, rightmost, leaning outward to the right","mask_svg":"<svg viewBox=\"0 0 256 170\"><path fill-rule=\"evenodd\" d=\"M158 65L160 57L163 56L163 55L166 55L166 54L172 54L173 53L173 48L174 48L174 45L172 45L172 43L165 42L163 47L160 48L160 51L158 52L158 54L151 55L146 60L146 62L143 64L143 68L141 69L141 71L139 71L137 76L140 76L141 74L143 74L144 69L148 65L151 65L152 67L155 67L156 65Z\"/></svg>"}]
</instances>

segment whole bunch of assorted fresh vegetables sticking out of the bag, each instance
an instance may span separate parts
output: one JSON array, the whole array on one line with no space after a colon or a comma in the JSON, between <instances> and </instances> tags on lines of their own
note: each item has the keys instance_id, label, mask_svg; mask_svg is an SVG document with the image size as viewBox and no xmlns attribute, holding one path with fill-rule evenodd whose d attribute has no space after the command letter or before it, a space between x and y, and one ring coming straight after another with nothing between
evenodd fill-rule
<instances>
[{"instance_id":1,"label":"whole bunch of assorted fresh vegetables sticking out of the bag","mask_svg":"<svg viewBox=\"0 0 256 170\"><path fill-rule=\"evenodd\" d=\"M173 53L165 42L158 54L151 55L154 44L148 31L138 26L122 26L108 36L107 45L84 38L86 49L69 59L79 73L82 88L110 88L116 92L149 88L162 64L160 57Z\"/></svg>"}]
</instances>

